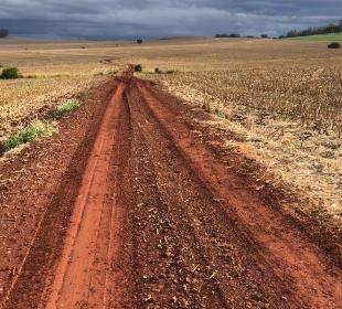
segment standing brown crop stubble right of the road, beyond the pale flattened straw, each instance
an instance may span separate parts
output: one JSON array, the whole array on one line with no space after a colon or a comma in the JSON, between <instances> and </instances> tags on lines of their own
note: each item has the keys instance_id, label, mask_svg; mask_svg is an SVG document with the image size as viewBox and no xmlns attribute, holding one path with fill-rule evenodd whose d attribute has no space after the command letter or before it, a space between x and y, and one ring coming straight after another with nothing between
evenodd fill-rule
<instances>
[{"instance_id":1,"label":"standing brown crop stubble right of the road, beyond the pale flattened straw","mask_svg":"<svg viewBox=\"0 0 342 309\"><path fill-rule=\"evenodd\" d=\"M342 135L342 63L241 65L225 71L182 73L161 81L202 93L222 107L263 110L298 119L302 127Z\"/></svg>"}]
</instances>

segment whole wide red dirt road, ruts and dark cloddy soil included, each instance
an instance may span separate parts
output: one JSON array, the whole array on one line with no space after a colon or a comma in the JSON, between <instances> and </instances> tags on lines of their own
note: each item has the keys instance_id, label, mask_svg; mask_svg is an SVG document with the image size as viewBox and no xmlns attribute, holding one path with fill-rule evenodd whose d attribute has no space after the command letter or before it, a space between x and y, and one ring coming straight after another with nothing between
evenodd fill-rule
<instances>
[{"instance_id":1,"label":"whole wide red dirt road, ruts and dark cloddy soil included","mask_svg":"<svg viewBox=\"0 0 342 309\"><path fill-rule=\"evenodd\" d=\"M236 154L224 162L184 106L131 71L103 89L77 150L60 140L74 158L50 160L44 181L60 187L34 189L50 203L31 214L32 245L7 243L26 258L2 308L341 308L340 253L279 210L282 194L257 190Z\"/></svg>"}]
</instances>

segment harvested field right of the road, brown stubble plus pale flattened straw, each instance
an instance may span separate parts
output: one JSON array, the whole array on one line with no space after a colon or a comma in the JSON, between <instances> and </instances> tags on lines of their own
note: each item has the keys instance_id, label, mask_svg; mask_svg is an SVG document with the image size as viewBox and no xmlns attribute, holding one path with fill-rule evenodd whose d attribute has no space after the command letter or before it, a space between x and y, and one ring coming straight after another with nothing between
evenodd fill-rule
<instances>
[{"instance_id":1,"label":"harvested field right of the road, brown stubble plus pale flattened straw","mask_svg":"<svg viewBox=\"0 0 342 309\"><path fill-rule=\"evenodd\" d=\"M224 138L225 147L261 162L264 178L309 198L302 211L340 226L341 73L340 62L284 66L277 61L159 75L157 81L191 107L213 115L213 129L234 132Z\"/></svg>"}]
</instances>

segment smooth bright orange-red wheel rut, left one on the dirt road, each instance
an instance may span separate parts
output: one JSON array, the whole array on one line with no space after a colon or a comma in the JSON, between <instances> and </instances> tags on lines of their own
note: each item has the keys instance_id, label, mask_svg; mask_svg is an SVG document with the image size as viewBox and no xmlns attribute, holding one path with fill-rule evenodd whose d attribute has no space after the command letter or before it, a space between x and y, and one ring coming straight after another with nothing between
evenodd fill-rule
<instances>
[{"instance_id":1,"label":"smooth bright orange-red wheel rut, left one on the dirt road","mask_svg":"<svg viewBox=\"0 0 342 309\"><path fill-rule=\"evenodd\" d=\"M125 120L120 83L113 97L88 159L75 202L61 260L42 308L108 308L115 297L111 262L117 252L115 237L120 223L117 198L120 150L125 149ZM117 162L117 163L114 163Z\"/></svg>"}]
</instances>

